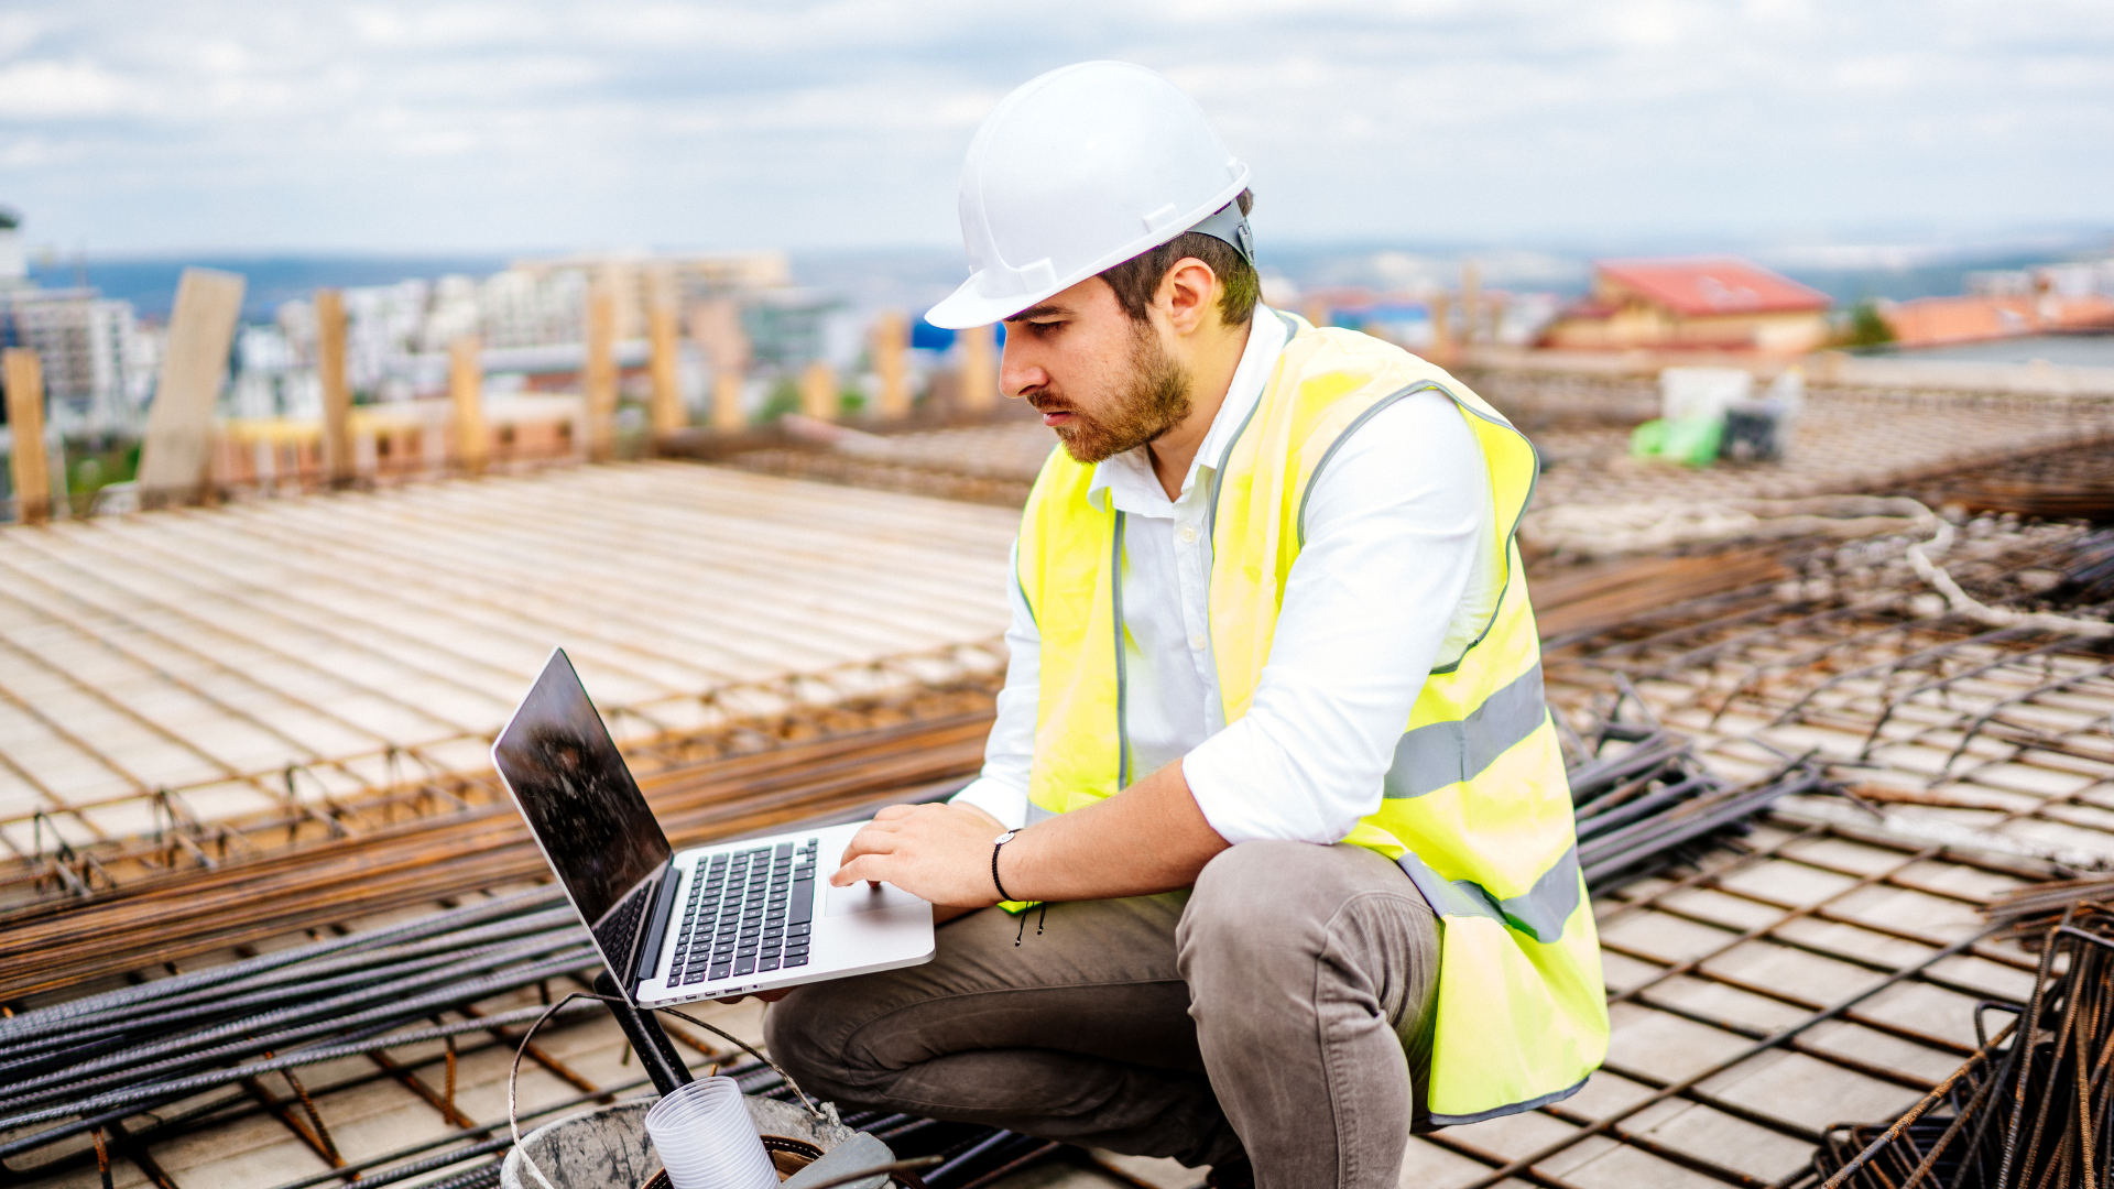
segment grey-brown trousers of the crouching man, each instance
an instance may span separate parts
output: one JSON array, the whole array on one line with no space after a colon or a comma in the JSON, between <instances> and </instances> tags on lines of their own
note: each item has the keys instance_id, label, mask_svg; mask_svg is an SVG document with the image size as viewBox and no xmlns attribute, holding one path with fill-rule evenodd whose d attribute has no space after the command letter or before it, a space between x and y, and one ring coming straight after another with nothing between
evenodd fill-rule
<instances>
[{"instance_id":1,"label":"grey-brown trousers of the crouching man","mask_svg":"<svg viewBox=\"0 0 2114 1189\"><path fill-rule=\"evenodd\" d=\"M1192 1168L1245 1155L1266 1189L1393 1187L1438 961L1385 857L1243 842L1194 891L1053 903L1046 925L975 912L932 963L797 988L763 1030L852 1106Z\"/></svg>"}]
</instances>

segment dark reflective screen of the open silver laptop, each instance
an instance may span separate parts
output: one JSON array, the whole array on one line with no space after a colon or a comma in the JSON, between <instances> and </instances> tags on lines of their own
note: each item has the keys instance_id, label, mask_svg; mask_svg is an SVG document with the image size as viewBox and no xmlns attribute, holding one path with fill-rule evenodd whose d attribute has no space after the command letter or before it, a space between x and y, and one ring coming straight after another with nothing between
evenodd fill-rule
<instances>
[{"instance_id":1,"label":"dark reflective screen of the open silver laptop","mask_svg":"<svg viewBox=\"0 0 2114 1189\"><path fill-rule=\"evenodd\" d=\"M602 956L622 971L647 908L632 893L672 850L564 650L552 652L493 760Z\"/></svg>"}]
</instances>

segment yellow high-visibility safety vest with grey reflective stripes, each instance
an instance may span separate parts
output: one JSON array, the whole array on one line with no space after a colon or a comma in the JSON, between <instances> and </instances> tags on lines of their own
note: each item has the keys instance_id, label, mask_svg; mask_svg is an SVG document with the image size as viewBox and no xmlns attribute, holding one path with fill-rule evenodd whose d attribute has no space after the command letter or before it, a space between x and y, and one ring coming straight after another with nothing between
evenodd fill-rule
<instances>
[{"instance_id":1,"label":"yellow high-visibility safety vest with grey reflective stripes","mask_svg":"<svg viewBox=\"0 0 2114 1189\"><path fill-rule=\"evenodd\" d=\"M1514 529L1533 495L1533 444L1444 370L1351 330L1292 328L1211 489L1211 654L1226 721L1247 713L1271 658L1306 491L1330 455L1395 400L1444 391L1482 446L1497 567L1482 605L1425 679L1380 810L1345 842L1387 855L1442 920L1427 1104L1471 1123L1577 1092L1607 1056L1607 996L1571 787L1541 696L1541 641ZM1097 510L1093 468L1051 453L1021 518L1019 584L1042 635L1030 800L1040 819L1129 785L1123 673L1123 512ZM1476 599L1471 588L1469 599Z\"/></svg>"}]
</instances>

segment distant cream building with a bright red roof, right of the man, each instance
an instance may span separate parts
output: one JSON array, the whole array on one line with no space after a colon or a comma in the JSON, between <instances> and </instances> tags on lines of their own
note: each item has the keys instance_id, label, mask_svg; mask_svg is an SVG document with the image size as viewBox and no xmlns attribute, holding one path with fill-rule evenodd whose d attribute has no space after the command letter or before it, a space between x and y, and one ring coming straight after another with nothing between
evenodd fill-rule
<instances>
[{"instance_id":1,"label":"distant cream building with a bright red roof, right of the man","mask_svg":"<svg viewBox=\"0 0 2114 1189\"><path fill-rule=\"evenodd\" d=\"M1558 349L1803 353L1826 341L1829 296L1731 258L1600 260L1592 296L1543 332Z\"/></svg>"}]
</instances>

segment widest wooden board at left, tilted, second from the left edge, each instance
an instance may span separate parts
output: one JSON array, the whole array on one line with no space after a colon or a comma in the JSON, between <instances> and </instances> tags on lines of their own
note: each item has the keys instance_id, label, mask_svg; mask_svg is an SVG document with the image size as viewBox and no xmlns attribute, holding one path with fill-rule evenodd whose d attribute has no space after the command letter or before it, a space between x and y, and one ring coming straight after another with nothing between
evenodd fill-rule
<instances>
[{"instance_id":1,"label":"widest wooden board at left, tilted, second from the left edge","mask_svg":"<svg viewBox=\"0 0 2114 1189\"><path fill-rule=\"evenodd\" d=\"M140 501L146 506L203 495L214 461L214 408L228 379L228 351L243 313L237 273L184 269L169 311L154 404L140 442Z\"/></svg>"}]
</instances>

